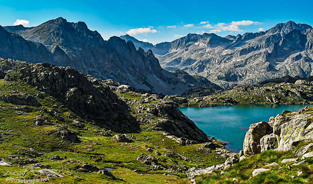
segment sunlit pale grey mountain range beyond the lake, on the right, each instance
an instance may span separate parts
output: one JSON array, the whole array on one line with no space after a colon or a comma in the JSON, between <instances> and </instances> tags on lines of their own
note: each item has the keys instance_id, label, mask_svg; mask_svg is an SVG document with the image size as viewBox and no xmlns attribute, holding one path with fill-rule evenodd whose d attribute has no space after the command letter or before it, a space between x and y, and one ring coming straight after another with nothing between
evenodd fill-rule
<instances>
[{"instance_id":1,"label":"sunlit pale grey mountain range beyond the lake, on the right","mask_svg":"<svg viewBox=\"0 0 313 184\"><path fill-rule=\"evenodd\" d=\"M228 88L285 75L312 75L312 32L309 25L289 21L267 31L224 38L188 34L149 49L166 70L181 69Z\"/></svg>"}]
</instances>

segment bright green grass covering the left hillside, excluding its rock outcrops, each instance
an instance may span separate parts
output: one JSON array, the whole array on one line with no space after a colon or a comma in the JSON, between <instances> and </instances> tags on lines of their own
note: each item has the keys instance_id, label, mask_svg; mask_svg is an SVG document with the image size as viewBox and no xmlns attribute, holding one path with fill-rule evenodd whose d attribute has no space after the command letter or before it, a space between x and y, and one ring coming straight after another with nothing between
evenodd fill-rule
<instances>
[{"instance_id":1,"label":"bright green grass covering the left hillside, excluding its rock outcrops","mask_svg":"<svg viewBox=\"0 0 313 184\"><path fill-rule=\"evenodd\" d=\"M39 93L35 87L31 87L21 81L12 82L0 79L0 96L13 92L23 92L34 96ZM121 99L141 99L128 93L119 94L119 96ZM182 171L182 169L184 169L183 166L187 168L195 167L200 164L210 166L223 163L225 160L215 153L203 151L200 149L200 145L179 146L172 139L164 137L162 132L143 131L131 134L136 137L137 140L135 142L113 142L111 137L103 137L95 133L94 130L99 130L99 128L85 120L83 123L90 130L86 131L73 127L73 121L67 117L69 113L73 112L66 109L54 97L44 94L44 99L38 98L38 101L42 104L42 107L31 107L33 108L33 112L21 112L20 114L16 114L17 111L13 110L13 108L25 106L0 101L0 135L3 137L3 141L0 143L0 157L12 163L12 166L0 166L1 183L10 183L5 182L6 177L17 178L17 176L13 175L3 176L7 171L22 172L24 171L24 166L31 165L26 164L21 167L18 165L21 159L12 159L12 155L17 155L26 160L31 159L28 154L25 154L25 152L27 152L25 150L30 151L31 149L36 150L37 153L40 154L40 156L34 158L34 160L40 164L50 165L52 169L64 176L63 178L49 178L50 183L177 183L186 180L185 171ZM57 121L56 118L48 113L41 112L41 108L43 107L46 109L57 108L59 111L64 109L62 115L65 121ZM33 124L33 118L40 114L49 117L55 126L35 126ZM135 115L139 116L139 113ZM79 132L82 142L76 144L68 143L60 137L56 137L54 130L59 126L66 126L69 130ZM141 126L147 127L147 125L144 124ZM156 146L160 148L156 148ZM147 153L147 147L151 147L153 152L157 150L162 155L156 156L154 153ZM186 157L188 161L180 159L177 154L168 154L168 150L174 151L182 157ZM151 171L149 166L142 165L136 160L142 152L152 154L156 158L165 158L168 163L159 161L162 167L169 168L175 166L176 168L181 168L181 171ZM167 156L164 154L167 154ZM61 157L67 156L67 159L51 161L48 157L52 155L59 155ZM77 163L68 162L70 159L77 160ZM110 177L96 172L82 173L78 169L81 162L88 162L92 165L96 165L100 169L105 167L115 168L111 171L112 174L115 177L122 178L124 181L115 181ZM39 170L39 168L34 169ZM137 171L134 172L134 170ZM31 172L25 175L25 179L33 178L36 177L34 177Z\"/></svg>"}]
</instances>

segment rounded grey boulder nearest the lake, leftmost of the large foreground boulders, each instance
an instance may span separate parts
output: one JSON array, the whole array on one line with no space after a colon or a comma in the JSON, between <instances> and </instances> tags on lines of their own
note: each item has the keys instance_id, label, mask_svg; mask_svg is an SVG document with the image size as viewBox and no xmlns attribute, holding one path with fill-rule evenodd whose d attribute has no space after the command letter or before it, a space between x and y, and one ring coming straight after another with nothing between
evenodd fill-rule
<instances>
[{"instance_id":1,"label":"rounded grey boulder nearest the lake, leftmost of the large foreground boulders","mask_svg":"<svg viewBox=\"0 0 313 184\"><path fill-rule=\"evenodd\" d=\"M267 122L251 124L244 137L244 156L251 156L261 152L260 139L269 129Z\"/></svg>"}]
</instances>

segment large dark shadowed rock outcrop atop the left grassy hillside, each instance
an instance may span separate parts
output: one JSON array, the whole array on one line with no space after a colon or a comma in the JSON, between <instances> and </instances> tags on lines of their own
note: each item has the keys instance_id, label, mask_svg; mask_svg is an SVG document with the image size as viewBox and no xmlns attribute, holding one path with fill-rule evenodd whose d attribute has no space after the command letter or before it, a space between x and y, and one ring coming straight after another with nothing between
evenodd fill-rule
<instances>
[{"instance_id":1,"label":"large dark shadowed rock outcrop atop the left grassy hillside","mask_svg":"<svg viewBox=\"0 0 313 184\"><path fill-rule=\"evenodd\" d=\"M83 116L109 119L123 111L115 105L118 99L109 88L99 86L99 91L74 68L56 67L47 63L21 63L18 72L21 73L22 81L37 86L40 91L59 96L66 107Z\"/></svg>"}]
</instances>

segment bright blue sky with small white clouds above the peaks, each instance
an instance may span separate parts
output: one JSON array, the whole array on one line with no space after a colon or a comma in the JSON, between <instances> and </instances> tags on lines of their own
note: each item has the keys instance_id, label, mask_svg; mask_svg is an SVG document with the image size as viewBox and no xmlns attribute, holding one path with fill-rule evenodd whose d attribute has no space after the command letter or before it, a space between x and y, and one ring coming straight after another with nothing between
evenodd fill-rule
<instances>
[{"instance_id":1,"label":"bright blue sky with small white clouds above the peaks","mask_svg":"<svg viewBox=\"0 0 313 184\"><path fill-rule=\"evenodd\" d=\"M313 1L4 1L0 25L38 26L58 17L86 22L107 40L126 33L153 44L189 32L219 36L259 32L292 20L313 26ZM22 21L17 21L17 19ZM25 20L25 21L23 21ZM28 21L28 22L27 22Z\"/></svg>"}]
</instances>

